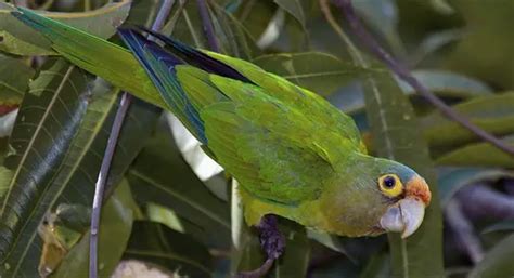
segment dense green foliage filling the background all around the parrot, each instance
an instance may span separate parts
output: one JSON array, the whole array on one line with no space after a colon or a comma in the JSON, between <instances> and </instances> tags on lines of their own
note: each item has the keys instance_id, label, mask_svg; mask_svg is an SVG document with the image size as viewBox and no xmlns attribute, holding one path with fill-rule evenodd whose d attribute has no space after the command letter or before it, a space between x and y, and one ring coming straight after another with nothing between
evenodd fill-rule
<instances>
[{"instance_id":1,"label":"dense green foliage filling the background all around the parrot","mask_svg":"<svg viewBox=\"0 0 514 278\"><path fill-rule=\"evenodd\" d=\"M433 191L423 226L408 240L334 237L281 221L287 251L268 277L514 276L512 220L477 220L464 206L474 200L459 194L479 184L514 202L512 157L447 120L360 47L359 62L320 12L325 1L206 1L221 52L327 98L354 117L370 153L411 166ZM89 207L120 90L59 57L10 14L9 2L0 1L0 276L87 277ZM150 26L162 1L15 2L119 42L117 27ZM514 145L510 1L354 2L373 36L422 83ZM340 11L332 12L344 26ZM198 1L175 1L163 32L205 49L204 30ZM119 70L119 80L137 88L133 74ZM170 277L227 277L264 260L255 229L242 223L230 176L217 174L176 124L142 101L129 109L102 214L102 277L129 260ZM472 227L486 227L470 234L484 246L476 264L466 248L451 248L470 230L444 222L450 202L462 204Z\"/></svg>"}]
</instances>

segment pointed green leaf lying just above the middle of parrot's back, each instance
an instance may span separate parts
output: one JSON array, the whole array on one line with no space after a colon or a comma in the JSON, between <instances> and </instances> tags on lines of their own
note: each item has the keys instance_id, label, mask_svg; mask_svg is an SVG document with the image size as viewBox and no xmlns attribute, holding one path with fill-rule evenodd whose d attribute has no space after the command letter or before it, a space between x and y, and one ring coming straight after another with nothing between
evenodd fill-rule
<instances>
[{"instance_id":1,"label":"pointed green leaf lying just above the middle of parrot's back","mask_svg":"<svg viewBox=\"0 0 514 278\"><path fill-rule=\"evenodd\" d=\"M351 63L320 52L270 54L257 57L253 63L324 96L363 72Z\"/></svg>"}]
</instances>

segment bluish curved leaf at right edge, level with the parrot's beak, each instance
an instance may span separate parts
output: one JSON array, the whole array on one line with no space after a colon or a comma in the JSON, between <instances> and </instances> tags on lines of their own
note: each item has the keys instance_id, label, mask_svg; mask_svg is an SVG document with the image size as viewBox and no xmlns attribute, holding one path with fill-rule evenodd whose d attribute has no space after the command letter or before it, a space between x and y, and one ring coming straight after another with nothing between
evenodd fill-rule
<instances>
[{"instance_id":1,"label":"bluish curved leaf at right edge, level with the parrot's beak","mask_svg":"<svg viewBox=\"0 0 514 278\"><path fill-rule=\"evenodd\" d=\"M462 187L477 182L492 182L514 173L501 169L460 168L440 174L438 178L440 206L445 208Z\"/></svg>"}]
</instances>

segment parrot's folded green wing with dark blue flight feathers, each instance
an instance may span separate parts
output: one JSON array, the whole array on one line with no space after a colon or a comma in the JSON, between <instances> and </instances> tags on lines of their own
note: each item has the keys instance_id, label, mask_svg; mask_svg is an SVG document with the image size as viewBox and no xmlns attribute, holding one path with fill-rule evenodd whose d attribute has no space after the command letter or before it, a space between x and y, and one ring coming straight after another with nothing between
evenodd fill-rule
<instances>
[{"instance_id":1,"label":"parrot's folded green wing with dark blue flight feathers","mask_svg":"<svg viewBox=\"0 0 514 278\"><path fill-rule=\"evenodd\" d=\"M256 197L290 204L316 198L338 161L359 147L351 119L309 91L158 34L151 32L171 52L137 30L119 34L170 109ZM348 130L356 134L345 136Z\"/></svg>"}]
</instances>

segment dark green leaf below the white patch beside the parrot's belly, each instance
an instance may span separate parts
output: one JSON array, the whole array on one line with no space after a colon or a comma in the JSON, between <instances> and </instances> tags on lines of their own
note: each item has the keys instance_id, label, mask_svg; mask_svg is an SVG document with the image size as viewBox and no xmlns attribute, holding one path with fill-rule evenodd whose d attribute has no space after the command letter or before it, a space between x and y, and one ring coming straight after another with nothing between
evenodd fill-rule
<instances>
[{"instance_id":1,"label":"dark green leaf below the white patch beside the parrot's belly","mask_svg":"<svg viewBox=\"0 0 514 278\"><path fill-rule=\"evenodd\" d=\"M214 196L183 161L169 132L158 132L129 170L128 178L139 203L170 208L200 230L203 242L224 247L230 242L228 203ZM187 226L184 226L187 228ZM211 233L216 230L216 233Z\"/></svg>"}]
</instances>

